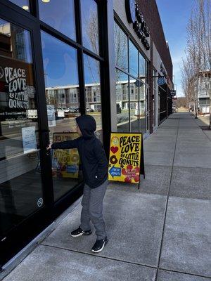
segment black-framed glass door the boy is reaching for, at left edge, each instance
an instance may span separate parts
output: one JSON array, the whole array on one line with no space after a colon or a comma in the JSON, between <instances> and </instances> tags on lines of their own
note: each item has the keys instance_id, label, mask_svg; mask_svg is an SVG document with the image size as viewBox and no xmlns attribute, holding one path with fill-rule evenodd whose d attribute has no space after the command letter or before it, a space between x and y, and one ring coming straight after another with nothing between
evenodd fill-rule
<instances>
[{"instance_id":1,"label":"black-framed glass door the boy is reaching for, at left edge","mask_svg":"<svg viewBox=\"0 0 211 281\"><path fill-rule=\"evenodd\" d=\"M20 22L4 20L4 8L0 13L0 265L50 218L43 189L44 171L50 169L44 158L49 155L38 149L44 134L39 126L33 34L28 19L29 30Z\"/></svg>"}]
</instances>

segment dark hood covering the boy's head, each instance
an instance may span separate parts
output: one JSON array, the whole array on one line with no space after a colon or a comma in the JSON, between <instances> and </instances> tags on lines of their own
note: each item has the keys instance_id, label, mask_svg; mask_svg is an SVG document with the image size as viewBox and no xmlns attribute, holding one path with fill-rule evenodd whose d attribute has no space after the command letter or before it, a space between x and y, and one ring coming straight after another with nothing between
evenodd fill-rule
<instances>
[{"instance_id":1,"label":"dark hood covering the boy's head","mask_svg":"<svg viewBox=\"0 0 211 281\"><path fill-rule=\"evenodd\" d=\"M75 120L84 138L91 138L94 136L94 131L96 131L96 121L94 117L90 115L82 115Z\"/></svg>"}]
</instances>

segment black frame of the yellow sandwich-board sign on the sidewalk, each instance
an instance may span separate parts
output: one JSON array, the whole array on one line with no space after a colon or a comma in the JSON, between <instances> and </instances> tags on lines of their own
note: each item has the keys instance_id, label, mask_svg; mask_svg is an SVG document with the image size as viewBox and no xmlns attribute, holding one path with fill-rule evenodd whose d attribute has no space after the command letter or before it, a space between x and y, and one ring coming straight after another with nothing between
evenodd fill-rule
<instances>
[{"instance_id":1,"label":"black frame of the yellow sandwich-board sign on the sidewalk","mask_svg":"<svg viewBox=\"0 0 211 281\"><path fill-rule=\"evenodd\" d=\"M112 169L113 168L113 164L112 163L110 163L110 157L111 157L111 140L112 140L112 137L113 137L113 135L119 135L119 136L121 136L121 135L131 135L131 136L134 136L135 134L138 134L139 136L141 136L141 150L140 150L140 152L141 152L141 157L140 157L140 159L139 159L139 167L140 167L140 169L139 169L139 182L138 182L138 185L139 185L139 189L140 189L140 175L143 175L143 178L145 178L145 167L144 167L144 156L143 156L143 133L140 133L140 132L138 132L138 133L136 133L136 132L124 132L124 133L120 133L120 132L111 132L110 133L110 147L109 147L109 162L108 162L108 175L109 175L109 171L110 171L110 169ZM126 165L125 165L126 166ZM110 176L109 176L110 177ZM109 181L113 181L112 179L110 179L109 178ZM121 181L122 182L122 181Z\"/></svg>"}]
</instances>

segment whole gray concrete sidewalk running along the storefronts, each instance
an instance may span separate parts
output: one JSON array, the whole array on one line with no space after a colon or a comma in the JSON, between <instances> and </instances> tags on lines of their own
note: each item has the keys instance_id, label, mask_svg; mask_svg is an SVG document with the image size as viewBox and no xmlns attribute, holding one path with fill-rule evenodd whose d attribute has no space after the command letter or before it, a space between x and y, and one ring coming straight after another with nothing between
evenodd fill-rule
<instances>
[{"instance_id":1,"label":"whole gray concrete sidewalk running along the storefronts","mask_svg":"<svg viewBox=\"0 0 211 281\"><path fill-rule=\"evenodd\" d=\"M208 281L211 277L211 141L175 113L144 142L146 179L110 183L104 202L109 242L70 237L69 214L4 281Z\"/></svg>"}]
</instances>

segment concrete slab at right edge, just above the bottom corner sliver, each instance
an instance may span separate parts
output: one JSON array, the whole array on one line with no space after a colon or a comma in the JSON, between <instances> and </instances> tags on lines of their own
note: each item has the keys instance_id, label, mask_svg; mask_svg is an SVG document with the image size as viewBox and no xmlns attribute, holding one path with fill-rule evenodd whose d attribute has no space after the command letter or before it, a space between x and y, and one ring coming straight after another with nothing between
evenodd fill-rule
<instances>
[{"instance_id":1,"label":"concrete slab at right edge, just above the bottom corner sliver","mask_svg":"<svg viewBox=\"0 0 211 281\"><path fill-rule=\"evenodd\" d=\"M160 268L211 277L211 202L170 197Z\"/></svg>"}]
</instances>

